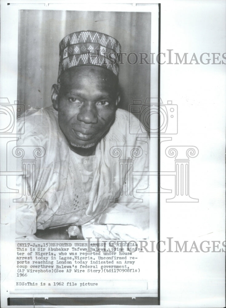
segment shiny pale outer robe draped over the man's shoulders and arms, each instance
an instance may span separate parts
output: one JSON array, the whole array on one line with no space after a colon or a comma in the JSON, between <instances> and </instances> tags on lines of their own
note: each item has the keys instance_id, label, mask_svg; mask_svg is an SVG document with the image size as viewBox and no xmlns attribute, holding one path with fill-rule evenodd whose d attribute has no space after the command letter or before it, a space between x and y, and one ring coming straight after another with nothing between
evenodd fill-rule
<instances>
[{"instance_id":1,"label":"shiny pale outer robe draped over the man's shoulders and arms","mask_svg":"<svg viewBox=\"0 0 226 308\"><path fill-rule=\"evenodd\" d=\"M129 133L129 125L133 126L133 132ZM23 122L18 121L18 132L22 130ZM130 169L134 171L147 171L147 143L141 142L137 136L145 141L148 138L140 130L140 123L127 111L118 109L115 121L107 134L100 140L95 152L95 168L92 187L89 194L88 206L84 214L79 217L75 225L82 225L84 237L99 236L105 239L144 239L148 237L149 227L149 194L136 193L137 189L147 187L147 176L133 176L133 192L120 196L120 191L125 188L129 179L129 170L123 169L122 180L119 174L119 160L131 160ZM59 208L68 174L69 146L58 125L58 113L53 107L30 109L26 112L25 133L20 135L17 146L42 146L46 153L42 158L36 159L35 185L31 193L26 193L17 202L16 231L18 237L31 235L36 229L50 227L50 221ZM112 148L115 147L115 148ZM117 150L116 148L119 148ZM137 148L142 154L138 158L131 156L131 150ZM111 151L111 153L110 153ZM113 152L112 152L113 151ZM120 157L116 157L121 154ZM134 152L136 155L136 152ZM138 155L139 156L139 155ZM21 169L21 160L18 159L18 168ZM130 170L131 171L131 170ZM80 204L85 206L85 193L81 175L78 169L76 173L76 193ZM33 176L32 170L26 171L24 177L18 177L18 188L21 191L22 180L29 185L29 179ZM35 194L32 196L32 192ZM29 190L26 189L26 192ZM119 197L120 196L120 197ZM119 197L119 199L117 199ZM136 202L139 198L142 202ZM44 202L40 202L40 199ZM110 199L117 199L110 202ZM73 224L73 220L70 221ZM59 225L62 225L59 221Z\"/></svg>"}]
</instances>

